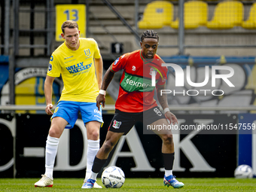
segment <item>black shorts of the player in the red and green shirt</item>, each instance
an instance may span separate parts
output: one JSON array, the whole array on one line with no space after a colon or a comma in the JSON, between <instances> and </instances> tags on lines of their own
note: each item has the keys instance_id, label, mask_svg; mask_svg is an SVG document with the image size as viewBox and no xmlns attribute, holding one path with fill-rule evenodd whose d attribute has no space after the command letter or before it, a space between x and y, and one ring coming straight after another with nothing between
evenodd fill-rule
<instances>
[{"instance_id":1,"label":"black shorts of the player in the red and green shirt","mask_svg":"<svg viewBox=\"0 0 256 192\"><path fill-rule=\"evenodd\" d=\"M124 133L123 135L126 135L138 121L149 125L156 120L165 118L159 107L154 107L139 113L127 113L116 109L108 130L114 133Z\"/></svg>"}]
</instances>

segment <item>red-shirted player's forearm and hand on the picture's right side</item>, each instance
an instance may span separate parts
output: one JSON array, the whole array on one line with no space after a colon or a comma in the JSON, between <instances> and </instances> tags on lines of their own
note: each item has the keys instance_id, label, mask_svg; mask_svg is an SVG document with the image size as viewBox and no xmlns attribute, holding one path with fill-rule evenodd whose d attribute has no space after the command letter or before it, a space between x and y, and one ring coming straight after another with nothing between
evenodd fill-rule
<instances>
[{"instance_id":1,"label":"red-shirted player's forearm and hand on the picture's right side","mask_svg":"<svg viewBox=\"0 0 256 192\"><path fill-rule=\"evenodd\" d=\"M164 115L166 116L166 119L168 119L170 123L174 125L175 123L178 123L178 120L175 114L172 114L172 112L169 111L169 105L167 102L166 94L162 94L161 96L161 90L165 90L165 87L165 84L163 86L157 86L157 99L162 108L164 109Z\"/></svg>"}]
</instances>

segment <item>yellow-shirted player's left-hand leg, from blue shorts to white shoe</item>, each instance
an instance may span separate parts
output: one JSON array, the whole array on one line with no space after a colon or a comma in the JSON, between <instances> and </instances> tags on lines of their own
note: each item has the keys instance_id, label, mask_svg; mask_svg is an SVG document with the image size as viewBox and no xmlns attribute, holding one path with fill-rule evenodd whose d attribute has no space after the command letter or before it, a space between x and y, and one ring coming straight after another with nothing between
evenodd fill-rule
<instances>
[{"instance_id":1,"label":"yellow-shirted player's left-hand leg, from blue shorts to white shoe","mask_svg":"<svg viewBox=\"0 0 256 192\"><path fill-rule=\"evenodd\" d=\"M60 101L52 116L49 135L45 147L45 173L35 183L35 187L53 186L53 166L59 145L59 138L65 128L72 128L78 118L78 108L75 102Z\"/></svg>"}]
</instances>

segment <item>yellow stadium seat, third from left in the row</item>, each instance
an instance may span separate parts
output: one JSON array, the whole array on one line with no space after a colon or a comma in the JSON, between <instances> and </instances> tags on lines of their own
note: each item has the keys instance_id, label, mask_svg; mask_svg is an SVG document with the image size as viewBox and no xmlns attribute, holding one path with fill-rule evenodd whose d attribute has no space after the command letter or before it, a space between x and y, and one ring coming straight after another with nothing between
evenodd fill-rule
<instances>
[{"instance_id":1,"label":"yellow stadium seat, third from left in the row","mask_svg":"<svg viewBox=\"0 0 256 192\"><path fill-rule=\"evenodd\" d=\"M207 23L209 29L232 29L241 26L243 20L242 2L224 1L215 7L211 21Z\"/></svg>"}]
</instances>

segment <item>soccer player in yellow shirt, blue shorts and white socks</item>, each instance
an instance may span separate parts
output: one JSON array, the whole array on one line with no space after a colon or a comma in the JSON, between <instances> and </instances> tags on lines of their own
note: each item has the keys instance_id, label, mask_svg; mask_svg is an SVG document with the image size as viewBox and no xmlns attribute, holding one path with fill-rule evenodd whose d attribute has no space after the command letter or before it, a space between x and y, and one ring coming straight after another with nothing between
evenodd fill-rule
<instances>
[{"instance_id":1,"label":"soccer player in yellow shirt, blue shorts and white socks","mask_svg":"<svg viewBox=\"0 0 256 192\"><path fill-rule=\"evenodd\" d=\"M94 157L99 150L99 128L103 123L102 109L96 107L96 96L102 84L102 56L93 38L79 38L78 23L62 23L61 44L50 56L44 82L45 112L51 117L51 126L45 148L45 173L35 187L53 186L53 165L59 138L65 128L71 129L81 112L87 129L87 177L90 177ZM62 75L63 90L54 113L51 111L53 80ZM101 187L97 185L96 187Z\"/></svg>"}]
</instances>

